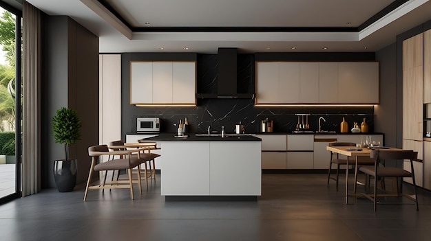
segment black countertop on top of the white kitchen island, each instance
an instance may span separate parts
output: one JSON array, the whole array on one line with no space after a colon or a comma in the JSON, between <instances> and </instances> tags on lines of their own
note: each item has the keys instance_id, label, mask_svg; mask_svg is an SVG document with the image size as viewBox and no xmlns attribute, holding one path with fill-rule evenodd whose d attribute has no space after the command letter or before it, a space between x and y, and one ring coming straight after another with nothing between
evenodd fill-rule
<instances>
[{"instance_id":1,"label":"black countertop on top of the white kitchen island","mask_svg":"<svg viewBox=\"0 0 431 241\"><path fill-rule=\"evenodd\" d=\"M252 135L235 135L227 134L227 137L211 136L202 137L195 134L189 134L188 137L175 137L176 133L160 133L156 137L145 138L145 141L262 141Z\"/></svg>"}]
</instances>

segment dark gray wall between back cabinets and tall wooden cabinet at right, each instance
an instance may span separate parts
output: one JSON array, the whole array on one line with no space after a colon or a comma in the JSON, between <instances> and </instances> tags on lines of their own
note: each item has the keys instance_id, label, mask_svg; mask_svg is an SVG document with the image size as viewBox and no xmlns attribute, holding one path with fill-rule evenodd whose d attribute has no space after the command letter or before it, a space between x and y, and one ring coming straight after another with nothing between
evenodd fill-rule
<instances>
[{"instance_id":1,"label":"dark gray wall between back cabinets and tall wooden cabinet at right","mask_svg":"<svg viewBox=\"0 0 431 241\"><path fill-rule=\"evenodd\" d=\"M380 104L374 109L374 126L375 131L385 133L386 146L397 146L397 139L401 138L397 132L397 111L402 105L397 106L397 88L402 88L402 85L397 85L396 50L394 43L376 53L376 60L380 63Z\"/></svg>"}]
</instances>

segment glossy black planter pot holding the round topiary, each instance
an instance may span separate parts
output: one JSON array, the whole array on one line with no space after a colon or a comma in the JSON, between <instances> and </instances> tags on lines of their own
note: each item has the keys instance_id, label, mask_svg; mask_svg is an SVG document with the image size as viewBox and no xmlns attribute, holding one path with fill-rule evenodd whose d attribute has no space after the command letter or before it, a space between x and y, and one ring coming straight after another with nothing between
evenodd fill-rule
<instances>
[{"instance_id":1,"label":"glossy black planter pot holding the round topiary","mask_svg":"<svg viewBox=\"0 0 431 241\"><path fill-rule=\"evenodd\" d=\"M72 192L76 185L76 159L55 160L54 179L59 192Z\"/></svg>"}]
</instances>

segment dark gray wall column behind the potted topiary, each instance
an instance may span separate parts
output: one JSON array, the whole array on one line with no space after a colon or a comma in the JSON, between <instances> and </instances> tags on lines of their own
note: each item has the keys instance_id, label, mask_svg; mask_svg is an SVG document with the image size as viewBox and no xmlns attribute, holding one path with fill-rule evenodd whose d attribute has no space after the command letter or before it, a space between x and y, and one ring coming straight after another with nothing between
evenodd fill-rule
<instances>
[{"instance_id":1,"label":"dark gray wall column behind the potted topiary","mask_svg":"<svg viewBox=\"0 0 431 241\"><path fill-rule=\"evenodd\" d=\"M98 144L98 37L68 16L43 16L42 187L55 187L52 168L64 159L64 146L52 136L51 119L63 106L83 122L81 141L70 146L78 159L77 183L87 181L87 148Z\"/></svg>"}]
</instances>

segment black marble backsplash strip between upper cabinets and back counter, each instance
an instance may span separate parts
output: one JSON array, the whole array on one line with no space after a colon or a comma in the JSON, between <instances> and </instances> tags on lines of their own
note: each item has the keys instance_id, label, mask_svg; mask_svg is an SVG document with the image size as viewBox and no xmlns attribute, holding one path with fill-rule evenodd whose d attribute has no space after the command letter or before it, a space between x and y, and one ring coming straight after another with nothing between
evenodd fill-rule
<instances>
[{"instance_id":1,"label":"black marble backsplash strip between upper cabinets and back counter","mask_svg":"<svg viewBox=\"0 0 431 241\"><path fill-rule=\"evenodd\" d=\"M368 124L368 130L373 132L373 108L361 107L255 107L253 100L247 99L202 99L198 100L198 106L193 107L141 107L142 114L132 117L151 116L160 117L160 131L175 133L179 120L187 117L189 132L206 133L208 126L211 130L220 132L222 126L227 133L233 133L235 124L245 125L246 133L260 133L261 121L268 118L273 121L273 132L290 133L296 128L298 116L295 114L308 115L309 130L318 129L319 117L322 120L322 130L333 130L339 132L343 117L348 122L349 130L353 128L354 122L360 126L364 118ZM302 124L302 117L299 116ZM304 117L304 123L306 117ZM136 128L136 127L135 127ZM129 130L134 132L135 130Z\"/></svg>"}]
</instances>

